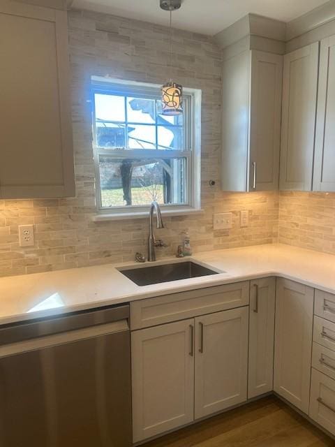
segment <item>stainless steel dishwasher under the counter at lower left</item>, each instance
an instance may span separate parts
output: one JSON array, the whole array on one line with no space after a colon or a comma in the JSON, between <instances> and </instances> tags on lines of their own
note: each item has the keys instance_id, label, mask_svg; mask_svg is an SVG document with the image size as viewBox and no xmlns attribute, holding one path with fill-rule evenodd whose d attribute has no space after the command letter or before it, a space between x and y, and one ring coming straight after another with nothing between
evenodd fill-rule
<instances>
[{"instance_id":1,"label":"stainless steel dishwasher under the counter at lower left","mask_svg":"<svg viewBox=\"0 0 335 447\"><path fill-rule=\"evenodd\" d=\"M128 321L122 305L0 328L0 446L130 446Z\"/></svg>"}]
</instances>

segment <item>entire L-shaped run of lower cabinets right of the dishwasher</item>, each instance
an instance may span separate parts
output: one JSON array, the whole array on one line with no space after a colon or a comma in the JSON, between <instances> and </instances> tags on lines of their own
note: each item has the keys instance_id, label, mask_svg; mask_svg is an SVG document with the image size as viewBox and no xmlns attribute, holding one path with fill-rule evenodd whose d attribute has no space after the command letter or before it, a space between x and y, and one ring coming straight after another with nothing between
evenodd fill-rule
<instances>
[{"instance_id":1,"label":"entire L-shaped run of lower cabinets right of the dishwasher","mask_svg":"<svg viewBox=\"0 0 335 447\"><path fill-rule=\"evenodd\" d=\"M250 297L248 281L220 287L200 307L200 292L133 305L133 442L271 390L335 434L335 296L274 277L250 281ZM221 293L240 307L206 313ZM249 298L250 309L241 305ZM191 318L141 328L143 318L175 318L184 308Z\"/></svg>"}]
</instances>

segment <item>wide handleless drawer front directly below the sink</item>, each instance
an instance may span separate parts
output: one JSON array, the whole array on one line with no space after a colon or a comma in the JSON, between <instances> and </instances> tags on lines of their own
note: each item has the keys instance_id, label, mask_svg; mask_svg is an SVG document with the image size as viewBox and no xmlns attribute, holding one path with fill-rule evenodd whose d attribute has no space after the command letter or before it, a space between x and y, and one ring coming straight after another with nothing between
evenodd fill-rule
<instances>
[{"instance_id":1,"label":"wide handleless drawer front directly below the sink","mask_svg":"<svg viewBox=\"0 0 335 447\"><path fill-rule=\"evenodd\" d=\"M131 329L211 314L249 303L249 281L131 302Z\"/></svg>"}]
</instances>

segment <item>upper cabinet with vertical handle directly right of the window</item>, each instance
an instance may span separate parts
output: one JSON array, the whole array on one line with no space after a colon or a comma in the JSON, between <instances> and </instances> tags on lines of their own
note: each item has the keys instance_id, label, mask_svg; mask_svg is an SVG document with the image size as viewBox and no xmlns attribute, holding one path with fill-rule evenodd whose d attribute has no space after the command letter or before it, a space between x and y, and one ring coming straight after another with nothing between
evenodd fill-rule
<instances>
[{"instance_id":1,"label":"upper cabinet with vertical handle directly right of the window","mask_svg":"<svg viewBox=\"0 0 335 447\"><path fill-rule=\"evenodd\" d=\"M278 189L283 57L246 50L223 61L224 191Z\"/></svg>"}]
</instances>

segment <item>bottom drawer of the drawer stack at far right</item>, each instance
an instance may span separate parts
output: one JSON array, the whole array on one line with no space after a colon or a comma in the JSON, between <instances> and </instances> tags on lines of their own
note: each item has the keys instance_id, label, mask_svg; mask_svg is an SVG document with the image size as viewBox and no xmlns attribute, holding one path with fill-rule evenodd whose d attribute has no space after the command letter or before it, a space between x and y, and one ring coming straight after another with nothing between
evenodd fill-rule
<instances>
[{"instance_id":1,"label":"bottom drawer of the drawer stack at far right","mask_svg":"<svg viewBox=\"0 0 335 447\"><path fill-rule=\"evenodd\" d=\"M335 381L312 369L309 416L335 434Z\"/></svg>"}]
</instances>

